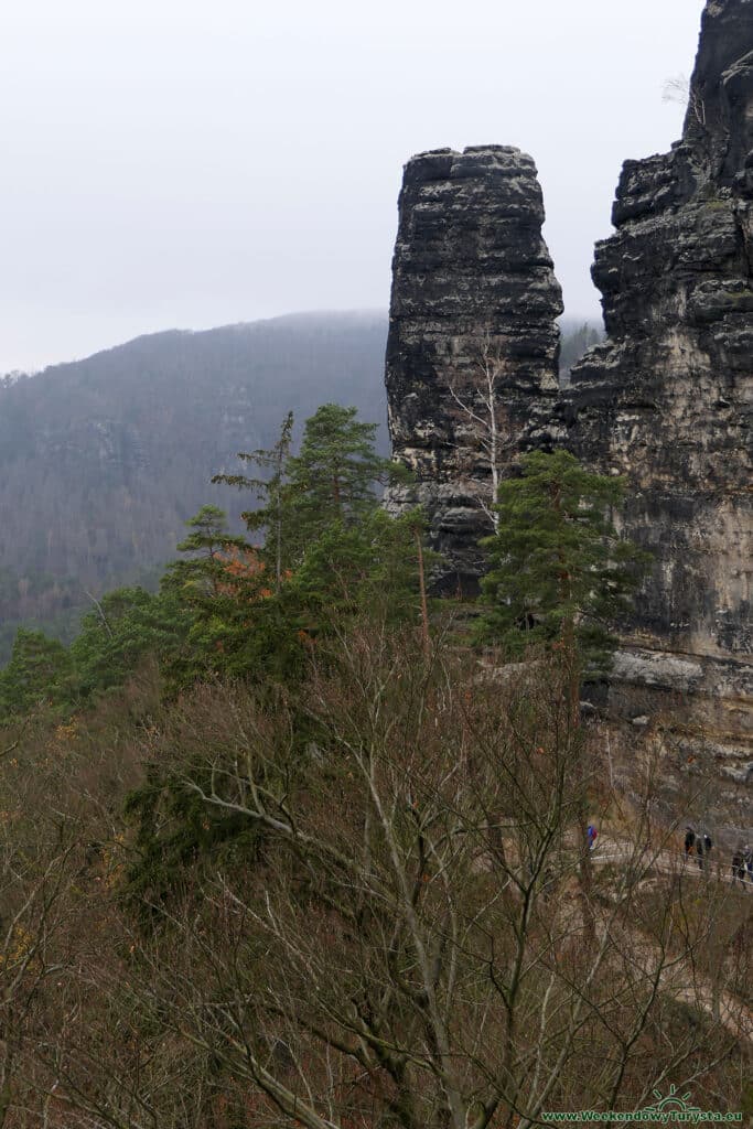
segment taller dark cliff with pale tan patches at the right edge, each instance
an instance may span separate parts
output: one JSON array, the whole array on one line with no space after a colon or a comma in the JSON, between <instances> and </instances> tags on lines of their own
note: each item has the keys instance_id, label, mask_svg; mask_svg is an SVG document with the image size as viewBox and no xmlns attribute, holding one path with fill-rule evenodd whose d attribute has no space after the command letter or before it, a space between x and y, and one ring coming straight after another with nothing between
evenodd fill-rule
<instances>
[{"instance_id":1,"label":"taller dark cliff with pale tan patches at the right edge","mask_svg":"<svg viewBox=\"0 0 753 1129\"><path fill-rule=\"evenodd\" d=\"M593 268L608 336L572 369L560 438L627 475L625 532L655 557L623 676L681 654L702 695L724 688L720 738L751 726L752 201L753 0L709 0L682 140L623 167Z\"/></svg>"}]
</instances>

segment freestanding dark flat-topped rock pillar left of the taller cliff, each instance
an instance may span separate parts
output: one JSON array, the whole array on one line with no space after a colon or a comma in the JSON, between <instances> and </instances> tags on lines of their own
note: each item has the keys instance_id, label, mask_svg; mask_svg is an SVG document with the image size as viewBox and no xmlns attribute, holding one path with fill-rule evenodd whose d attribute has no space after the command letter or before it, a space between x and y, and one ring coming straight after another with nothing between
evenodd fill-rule
<instances>
[{"instance_id":1,"label":"freestanding dark flat-topped rock pillar left of the taller cliff","mask_svg":"<svg viewBox=\"0 0 753 1129\"><path fill-rule=\"evenodd\" d=\"M440 149L405 166L386 384L393 452L418 484L387 505L424 506L448 588L473 588L482 570L491 446L504 466L558 394L562 304L543 220L518 149Z\"/></svg>"}]
</instances>

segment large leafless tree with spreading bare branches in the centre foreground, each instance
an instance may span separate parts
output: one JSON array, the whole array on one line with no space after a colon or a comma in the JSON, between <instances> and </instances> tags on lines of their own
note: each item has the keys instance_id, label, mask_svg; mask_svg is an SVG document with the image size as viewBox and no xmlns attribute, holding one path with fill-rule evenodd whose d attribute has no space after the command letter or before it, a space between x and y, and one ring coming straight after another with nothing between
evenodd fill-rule
<instances>
[{"instance_id":1,"label":"large leafless tree with spreading bare branches in the centre foreground","mask_svg":"<svg viewBox=\"0 0 753 1129\"><path fill-rule=\"evenodd\" d=\"M728 891L699 914L640 820L584 887L583 790L610 796L563 679L369 631L296 702L208 692L159 735L202 735L185 787L264 846L172 912L170 960L134 935L133 987L252 1087L245 1124L527 1129L739 1061L739 970L708 957Z\"/></svg>"}]
</instances>

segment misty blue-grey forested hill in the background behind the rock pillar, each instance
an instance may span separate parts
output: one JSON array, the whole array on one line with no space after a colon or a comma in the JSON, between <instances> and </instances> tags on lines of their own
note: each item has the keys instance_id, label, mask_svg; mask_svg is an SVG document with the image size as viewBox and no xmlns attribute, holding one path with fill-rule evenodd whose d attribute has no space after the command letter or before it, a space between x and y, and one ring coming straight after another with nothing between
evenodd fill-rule
<instances>
[{"instance_id":1,"label":"misty blue-grey forested hill in the background behind the rock pillar","mask_svg":"<svg viewBox=\"0 0 753 1129\"><path fill-rule=\"evenodd\" d=\"M563 362L596 332L564 322ZM319 404L352 404L386 454L386 312L291 314L0 379L0 662L19 623L65 638L91 596L156 584L203 504L237 523L253 499L210 479L289 410L299 434Z\"/></svg>"}]
</instances>

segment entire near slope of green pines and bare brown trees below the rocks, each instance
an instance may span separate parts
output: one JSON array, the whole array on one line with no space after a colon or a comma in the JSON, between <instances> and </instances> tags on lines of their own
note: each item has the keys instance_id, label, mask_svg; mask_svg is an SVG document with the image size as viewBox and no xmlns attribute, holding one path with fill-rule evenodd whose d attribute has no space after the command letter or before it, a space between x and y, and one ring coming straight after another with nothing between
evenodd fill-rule
<instances>
[{"instance_id":1,"label":"entire near slope of green pines and bare brown trees below the rocks","mask_svg":"<svg viewBox=\"0 0 753 1129\"><path fill-rule=\"evenodd\" d=\"M286 420L246 463L256 544L204 506L157 594L108 593L69 648L19 631L3 1129L753 1108L745 855L681 849L719 787L583 708L647 563L624 481L523 455L480 597L432 598L375 431L323 404L294 453Z\"/></svg>"}]
</instances>

